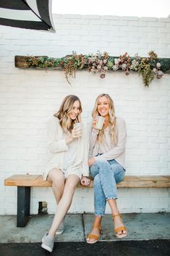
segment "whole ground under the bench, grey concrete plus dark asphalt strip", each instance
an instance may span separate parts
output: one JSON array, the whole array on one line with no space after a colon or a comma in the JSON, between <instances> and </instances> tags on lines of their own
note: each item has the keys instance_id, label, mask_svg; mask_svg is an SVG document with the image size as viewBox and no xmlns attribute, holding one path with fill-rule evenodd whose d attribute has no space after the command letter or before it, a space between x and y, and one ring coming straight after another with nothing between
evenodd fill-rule
<instances>
[{"instance_id":1,"label":"whole ground under the bench, grey concrete plus dark asphalt strip","mask_svg":"<svg viewBox=\"0 0 170 256\"><path fill-rule=\"evenodd\" d=\"M54 215L34 215L25 228L16 227L16 216L0 216L0 256L46 255L41 238L48 231ZM103 235L96 244L85 243L92 214L68 214L64 234L56 236L57 256L168 256L170 255L170 213L130 213L122 215L128 234L117 239L111 215L102 222Z\"/></svg>"}]
</instances>

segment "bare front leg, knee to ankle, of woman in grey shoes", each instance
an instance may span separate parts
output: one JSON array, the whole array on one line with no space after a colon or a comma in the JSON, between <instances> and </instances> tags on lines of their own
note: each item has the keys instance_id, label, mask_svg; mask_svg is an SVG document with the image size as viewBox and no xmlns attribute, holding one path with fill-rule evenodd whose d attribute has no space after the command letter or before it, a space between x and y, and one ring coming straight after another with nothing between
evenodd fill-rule
<instances>
[{"instance_id":1,"label":"bare front leg, knee to ankle, of woman in grey shoes","mask_svg":"<svg viewBox=\"0 0 170 256\"><path fill-rule=\"evenodd\" d=\"M69 210L69 207L72 203L73 194L75 193L75 188L79 181L80 181L80 178L78 176L76 176L75 174L70 175L66 179L66 183L64 185L64 192L59 201L59 205L57 207L53 223L48 232L48 234L50 236L54 236L56 234L56 230L57 230L57 228L59 228L59 224L61 223L61 220L63 220L64 216L66 215L67 211Z\"/></svg>"}]
</instances>

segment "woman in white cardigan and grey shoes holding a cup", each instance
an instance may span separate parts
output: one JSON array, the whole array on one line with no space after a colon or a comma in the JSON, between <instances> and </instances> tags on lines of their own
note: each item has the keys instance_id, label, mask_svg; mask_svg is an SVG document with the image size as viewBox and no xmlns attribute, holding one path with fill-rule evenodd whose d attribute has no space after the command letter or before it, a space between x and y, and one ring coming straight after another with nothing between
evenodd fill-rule
<instances>
[{"instance_id":1,"label":"woman in white cardigan and grey shoes holding a cup","mask_svg":"<svg viewBox=\"0 0 170 256\"><path fill-rule=\"evenodd\" d=\"M68 95L61 103L48 125L48 162L44 180L52 183L57 210L50 230L43 236L41 247L48 252L54 248L55 234L64 231L64 216L72 203L75 188L79 182L88 186L88 136L85 125L80 123L82 112L80 99ZM79 123L80 127L76 127Z\"/></svg>"}]
</instances>

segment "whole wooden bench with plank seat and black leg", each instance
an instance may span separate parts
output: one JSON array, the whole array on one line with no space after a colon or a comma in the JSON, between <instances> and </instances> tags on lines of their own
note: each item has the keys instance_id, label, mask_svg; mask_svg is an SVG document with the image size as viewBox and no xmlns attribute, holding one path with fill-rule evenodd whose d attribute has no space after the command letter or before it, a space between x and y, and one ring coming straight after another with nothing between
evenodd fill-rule
<instances>
[{"instance_id":1,"label":"whole wooden bench with plank seat and black leg","mask_svg":"<svg viewBox=\"0 0 170 256\"><path fill-rule=\"evenodd\" d=\"M51 187L51 182L43 181L41 175L20 174L4 180L5 186L17 186L17 227L27 225L30 217L30 188ZM78 187L83 187L81 184ZM88 188L93 187L93 181ZM170 176L125 176L118 188L169 188Z\"/></svg>"}]
</instances>

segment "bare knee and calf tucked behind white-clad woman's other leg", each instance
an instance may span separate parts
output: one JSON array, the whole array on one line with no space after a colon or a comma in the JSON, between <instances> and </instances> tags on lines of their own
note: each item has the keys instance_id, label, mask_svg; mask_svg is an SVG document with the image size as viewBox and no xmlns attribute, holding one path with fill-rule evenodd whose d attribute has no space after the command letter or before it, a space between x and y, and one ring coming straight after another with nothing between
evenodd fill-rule
<instances>
[{"instance_id":1,"label":"bare knee and calf tucked behind white-clad woman's other leg","mask_svg":"<svg viewBox=\"0 0 170 256\"><path fill-rule=\"evenodd\" d=\"M64 174L61 170L53 168L49 171L47 179L52 182L54 197L58 205L64 191Z\"/></svg>"}]
</instances>

